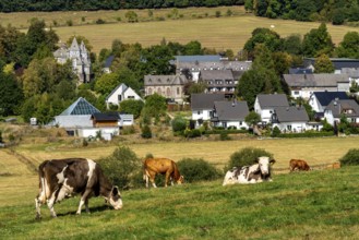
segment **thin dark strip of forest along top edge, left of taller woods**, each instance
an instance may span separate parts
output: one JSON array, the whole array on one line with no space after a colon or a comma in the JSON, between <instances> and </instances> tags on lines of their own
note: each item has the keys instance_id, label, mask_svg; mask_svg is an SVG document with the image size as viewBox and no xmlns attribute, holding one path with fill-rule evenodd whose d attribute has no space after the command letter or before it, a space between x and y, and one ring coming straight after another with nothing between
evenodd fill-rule
<instances>
[{"instance_id":1,"label":"thin dark strip of forest along top edge, left of taller woods","mask_svg":"<svg viewBox=\"0 0 359 240\"><path fill-rule=\"evenodd\" d=\"M189 7L243 5L244 0L0 0L1 12L96 11L119 9L159 9Z\"/></svg>"}]
</instances>

